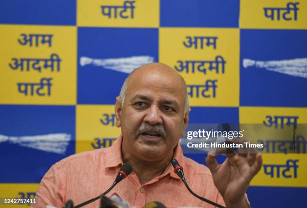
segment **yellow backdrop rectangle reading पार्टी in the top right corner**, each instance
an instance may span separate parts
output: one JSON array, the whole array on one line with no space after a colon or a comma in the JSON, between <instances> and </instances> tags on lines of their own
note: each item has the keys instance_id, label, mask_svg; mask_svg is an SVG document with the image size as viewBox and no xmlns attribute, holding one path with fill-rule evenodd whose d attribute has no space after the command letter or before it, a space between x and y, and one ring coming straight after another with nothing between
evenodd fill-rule
<instances>
[{"instance_id":1,"label":"yellow backdrop rectangle reading \u092a\u093e\u0930\u094d\u091f\u0940 in the top right corner","mask_svg":"<svg viewBox=\"0 0 307 208\"><path fill-rule=\"evenodd\" d=\"M306 29L307 1L240 0L240 28Z\"/></svg>"}]
</instances>

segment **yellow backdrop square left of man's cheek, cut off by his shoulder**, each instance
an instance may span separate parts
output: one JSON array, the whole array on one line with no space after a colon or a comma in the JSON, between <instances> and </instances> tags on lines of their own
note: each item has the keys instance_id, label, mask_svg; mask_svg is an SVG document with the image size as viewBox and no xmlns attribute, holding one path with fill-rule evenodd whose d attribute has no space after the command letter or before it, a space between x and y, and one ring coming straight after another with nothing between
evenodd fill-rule
<instances>
[{"instance_id":1,"label":"yellow backdrop square left of man's cheek, cut off by his shoulder","mask_svg":"<svg viewBox=\"0 0 307 208\"><path fill-rule=\"evenodd\" d=\"M120 134L114 105L77 105L76 153L108 147Z\"/></svg>"}]
</instances>

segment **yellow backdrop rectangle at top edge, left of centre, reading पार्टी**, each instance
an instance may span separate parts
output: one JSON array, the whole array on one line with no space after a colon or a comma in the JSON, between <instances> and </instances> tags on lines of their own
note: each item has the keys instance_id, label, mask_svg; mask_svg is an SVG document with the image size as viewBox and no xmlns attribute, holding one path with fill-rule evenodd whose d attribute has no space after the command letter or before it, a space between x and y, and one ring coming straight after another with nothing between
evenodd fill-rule
<instances>
[{"instance_id":1,"label":"yellow backdrop rectangle at top edge, left of centre, reading \u092a\u093e\u0930\u094d\u091f\u0940","mask_svg":"<svg viewBox=\"0 0 307 208\"><path fill-rule=\"evenodd\" d=\"M159 27L159 0L78 0L78 26Z\"/></svg>"}]
</instances>

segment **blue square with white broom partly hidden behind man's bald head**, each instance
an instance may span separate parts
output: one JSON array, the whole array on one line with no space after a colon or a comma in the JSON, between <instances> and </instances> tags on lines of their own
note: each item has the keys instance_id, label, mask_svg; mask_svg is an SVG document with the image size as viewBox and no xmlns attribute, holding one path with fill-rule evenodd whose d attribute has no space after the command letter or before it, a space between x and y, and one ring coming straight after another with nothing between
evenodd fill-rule
<instances>
[{"instance_id":1,"label":"blue square with white broom partly hidden behind man's bald head","mask_svg":"<svg viewBox=\"0 0 307 208\"><path fill-rule=\"evenodd\" d=\"M114 104L132 69L158 61L158 29L78 28L78 103Z\"/></svg>"}]
</instances>

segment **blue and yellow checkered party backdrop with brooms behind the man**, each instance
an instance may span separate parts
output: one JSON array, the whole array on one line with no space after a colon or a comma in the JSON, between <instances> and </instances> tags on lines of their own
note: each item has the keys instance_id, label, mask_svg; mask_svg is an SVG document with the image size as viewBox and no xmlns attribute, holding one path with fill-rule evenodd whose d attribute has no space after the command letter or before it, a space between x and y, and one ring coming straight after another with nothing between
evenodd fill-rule
<instances>
[{"instance_id":1,"label":"blue and yellow checkered party backdrop with brooms behind the man","mask_svg":"<svg viewBox=\"0 0 307 208\"><path fill-rule=\"evenodd\" d=\"M186 79L191 123L307 123L306 29L305 0L1 0L0 197L32 198L55 162L110 146L115 96L149 62ZM306 154L263 161L252 206L303 206Z\"/></svg>"}]
</instances>

